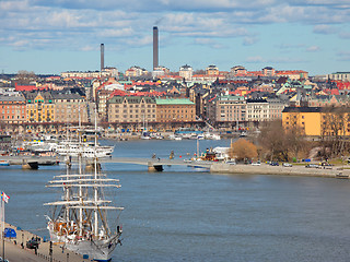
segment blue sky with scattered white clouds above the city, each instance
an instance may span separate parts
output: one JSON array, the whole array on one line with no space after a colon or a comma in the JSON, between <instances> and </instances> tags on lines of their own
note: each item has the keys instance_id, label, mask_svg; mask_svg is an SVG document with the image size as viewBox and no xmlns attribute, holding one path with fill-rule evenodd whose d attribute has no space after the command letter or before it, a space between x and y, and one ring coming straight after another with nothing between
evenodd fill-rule
<instances>
[{"instance_id":1,"label":"blue sky with scattered white clouds above the city","mask_svg":"<svg viewBox=\"0 0 350 262\"><path fill-rule=\"evenodd\" d=\"M350 71L350 0L0 0L0 72L215 64Z\"/></svg>"}]
</instances>

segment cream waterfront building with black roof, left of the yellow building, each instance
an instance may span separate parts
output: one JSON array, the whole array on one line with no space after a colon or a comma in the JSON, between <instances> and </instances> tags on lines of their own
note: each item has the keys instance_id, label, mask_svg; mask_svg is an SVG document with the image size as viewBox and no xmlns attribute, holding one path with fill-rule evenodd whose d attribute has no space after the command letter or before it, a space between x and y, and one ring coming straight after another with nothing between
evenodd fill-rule
<instances>
[{"instance_id":1,"label":"cream waterfront building with black roof, left of the yellow building","mask_svg":"<svg viewBox=\"0 0 350 262\"><path fill-rule=\"evenodd\" d=\"M247 99L246 103L246 121L264 122L270 120L269 103L266 99Z\"/></svg>"}]
</instances>

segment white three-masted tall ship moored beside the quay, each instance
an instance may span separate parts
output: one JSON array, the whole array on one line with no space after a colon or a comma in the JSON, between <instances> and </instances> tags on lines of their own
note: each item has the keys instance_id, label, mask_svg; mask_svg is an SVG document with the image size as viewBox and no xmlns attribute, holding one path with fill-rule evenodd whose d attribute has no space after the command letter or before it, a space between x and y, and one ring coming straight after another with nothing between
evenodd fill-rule
<instances>
[{"instance_id":1,"label":"white three-masted tall ship moored beside the quay","mask_svg":"<svg viewBox=\"0 0 350 262\"><path fill-rule=\"evenodd\" d=\"M121 245L119 216L124 207L113 206L105 191L121 186L102 172L96 146L93 158L83 157L84 146L79 148L77 167L67 162L66 174L55 176L46 186L62 189L60 200L45 204L52 207L46 216L50 240L85 259L110 261L116 246Z\"/></svg>"}]
</instances>

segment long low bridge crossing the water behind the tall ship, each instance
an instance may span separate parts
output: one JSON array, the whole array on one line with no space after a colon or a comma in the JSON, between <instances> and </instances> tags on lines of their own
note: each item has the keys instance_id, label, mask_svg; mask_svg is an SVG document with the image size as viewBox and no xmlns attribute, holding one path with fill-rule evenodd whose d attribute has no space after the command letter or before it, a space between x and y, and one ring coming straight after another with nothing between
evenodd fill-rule
<instances>
[{"instance_id":1,"label":"long low bridge crossing the water behind the tall ship","mask_svg":"<svg viewBox=\"0 0 350 262\"><path fill-rule=\"evenodd\" d=\"M22 165L23 168L37 169L40 165L58 165L66 163L66 158L49 156L0 156L0 163L9 163L10 165ZM72 157L71 162L77 162L77 157ZM84 158L84 162L92 162L92 158ZM147 166L149 171L163 171L163 166L189 166L202 167L210 169L212 162L205 160L183 160L167 158L133 158L133 157L104 157L98 158L100 163L120 163L131 165Z\"/></svg>"}]
</instances>

